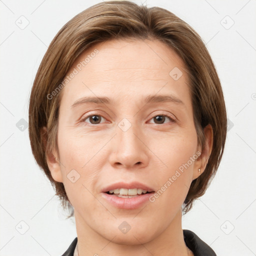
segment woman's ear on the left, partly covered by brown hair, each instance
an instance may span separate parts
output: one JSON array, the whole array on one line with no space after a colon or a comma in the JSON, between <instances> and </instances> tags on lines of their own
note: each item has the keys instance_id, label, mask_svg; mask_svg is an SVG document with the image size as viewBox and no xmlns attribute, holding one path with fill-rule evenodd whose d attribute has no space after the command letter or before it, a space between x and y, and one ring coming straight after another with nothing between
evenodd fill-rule
<instances>
[{"instance_id":1,"label":"woman's ear on the left, partly covered by brown hair","mask_svg":"<svg viewBox=\"0 0 256 256\"><path fill-rule=\"evenodd\" d=\"M46 151L46 145L47 145L47 128L44 126L40 130L41 132L41 141L43 143L46 162L48 165L48 168L50 170L51 176L55 181L63 182L62 175L61 175L61 169L60 169L60 162L58 160L58 155L56 150L54 149L51 152Z\"/></svg>"}]
</instances>

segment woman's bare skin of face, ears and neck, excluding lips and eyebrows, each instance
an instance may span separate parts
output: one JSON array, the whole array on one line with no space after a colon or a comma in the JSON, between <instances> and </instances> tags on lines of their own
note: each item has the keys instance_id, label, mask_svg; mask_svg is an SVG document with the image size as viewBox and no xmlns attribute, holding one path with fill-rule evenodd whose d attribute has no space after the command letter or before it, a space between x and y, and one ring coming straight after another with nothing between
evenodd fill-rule
<instances>
[{"instance_id":1,"label":"woman's bare skin of face, ears and neck, excluding lips and eyebrows","mask_svg":"<svg viewBox=\"0 0 256 256\"><path fill-rule=\"evenodd\" d=\"M95 48L99 52L61 91L58 150L46 156L52 177L63 182L74 207L79 256L192 255L183 239L181 205L210 155L210 125L204 128L205 151L154 202L119 209L100 194L108 184L134 180L157 191L200 151L184 63L158 40L113 39L83 52L68 73ZM169 75L173 67L183 73L178 80ZM183 104L145 104L149 94L174 95ZM113 102L72 107L84 96ZM96 124L88 118L93 114L101 117ZM175 120L153 118L164 114ZM124 117L131 124L126 131L118 126ZM67 177L72 169L80 175L74 183ZM131 226L125 234L118 229L123 221Z\"/></svg>"}]
</instances>

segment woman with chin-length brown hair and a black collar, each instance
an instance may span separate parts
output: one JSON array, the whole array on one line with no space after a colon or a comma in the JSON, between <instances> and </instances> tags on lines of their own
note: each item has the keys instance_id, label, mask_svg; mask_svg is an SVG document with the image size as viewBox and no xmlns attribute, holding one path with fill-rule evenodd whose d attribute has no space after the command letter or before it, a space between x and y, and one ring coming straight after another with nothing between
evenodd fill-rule
<instances>
[{"instance_id":1,"label":"woman with chin-length brown hair and a black collar","mask_svg":"<svg viewBox=\"0 0 256 256\"><path fill-rule=\"evenodd\" d=\"M221 160L225 103L205 45L173 13L110 1L68 21L37 71L29 136L73 208L63 255L215 255L181 216Z\"/></svg>"}]
</instances>

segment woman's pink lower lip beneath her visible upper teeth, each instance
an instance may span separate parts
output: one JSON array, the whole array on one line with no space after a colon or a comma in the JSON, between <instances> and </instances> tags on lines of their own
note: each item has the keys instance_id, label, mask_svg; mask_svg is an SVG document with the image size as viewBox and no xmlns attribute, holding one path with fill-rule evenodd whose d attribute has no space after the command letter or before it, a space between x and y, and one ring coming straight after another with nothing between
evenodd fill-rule
<instances>
[{"instance_id":1,"label":"woman's pink lower lip beneath her visible upper teeth","mask_svg":"<svg viewBox=\"0 0 256 256\"><path fill-rule=\"evenodd\" d=\"M123 198L116 195L110 195L102 192L102 197L105 198L111 205L120 209L136 209L141 207L149 200L149 197L153 194L146 193L135 197Z\"/></svg>"}]
</instances>

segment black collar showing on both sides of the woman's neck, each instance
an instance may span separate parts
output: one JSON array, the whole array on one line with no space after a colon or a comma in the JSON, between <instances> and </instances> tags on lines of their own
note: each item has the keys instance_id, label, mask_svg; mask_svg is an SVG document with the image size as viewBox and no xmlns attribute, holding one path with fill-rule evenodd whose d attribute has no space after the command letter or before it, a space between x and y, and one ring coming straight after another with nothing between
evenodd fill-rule
<instances>
[{"instance_id":1,"label":"black collar showing on both sides of the woman's neck","mask_svg":"<svg viewBox=\"0 0 256 256\"><path fill-rule=\"evenodd\" d=\"M211 247L201 240L194 232L183 229L186 246L193 252L194 256L216 256ZM77 237L71 242L67 250L61 256L73 256Z\"/></svg>"}]
</instances>

